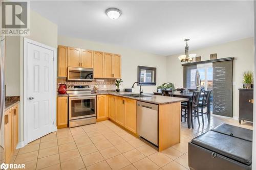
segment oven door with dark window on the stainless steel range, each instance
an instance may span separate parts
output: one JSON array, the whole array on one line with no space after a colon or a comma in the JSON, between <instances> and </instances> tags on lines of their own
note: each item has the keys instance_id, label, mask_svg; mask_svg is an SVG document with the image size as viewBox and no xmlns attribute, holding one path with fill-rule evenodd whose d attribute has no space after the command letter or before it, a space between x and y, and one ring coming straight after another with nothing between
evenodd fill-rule
<instances>
[{"instance_id":1,"label":"oven door with dark window on the stainless steel range","mask_svg":"<svg viewBox=\"0 0 256 170\"><path fill-rule=\"evenodd\" d=\"M96 116L96 96L69 97L69 120Z\"/></svg>"}]
</instances>

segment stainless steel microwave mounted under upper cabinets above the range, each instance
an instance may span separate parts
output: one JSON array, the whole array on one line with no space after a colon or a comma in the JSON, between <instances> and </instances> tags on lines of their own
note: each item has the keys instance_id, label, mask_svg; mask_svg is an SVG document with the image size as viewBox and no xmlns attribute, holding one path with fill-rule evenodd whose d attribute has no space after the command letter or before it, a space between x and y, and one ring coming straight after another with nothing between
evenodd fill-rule
<instances>
[{"instance_id":1,"label":"stainless steel microwave mounted under upper cabinets above the range","mask_svg":"<svg viewBox=\"0 0 256 170\"><path fill-rule=\"evenodd\" d=\"M93 68L68 67L68 81L93 81Z\"/></svg>"}]
</instances>

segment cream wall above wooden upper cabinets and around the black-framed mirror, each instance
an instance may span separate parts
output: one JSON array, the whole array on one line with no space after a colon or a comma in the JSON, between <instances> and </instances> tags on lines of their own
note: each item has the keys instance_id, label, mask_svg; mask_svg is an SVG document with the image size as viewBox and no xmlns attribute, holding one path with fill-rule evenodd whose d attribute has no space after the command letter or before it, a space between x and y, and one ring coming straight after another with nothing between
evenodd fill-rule
<instances>
[{"instance_id":1,"label":"cream wall above wooden upper cabinets and around the black-framed mirror","mask_svg":"<svg viewBox=\"0 0 256 170\"><path fill-rule=\"evenodd\" d=\"M123 83L120 86L121 90L123 88L131 88L133 83L137 81L138 65L157 67L157 86L166 81L166 57L164 56L66 36L58 36L58 45L120 54L121 76L123 79ZM142 89L144 92L152 93L156 91L157 86L142 86ZM133 91L139 92L139 86L135 86Z\"/></svg>"}]
</instances>

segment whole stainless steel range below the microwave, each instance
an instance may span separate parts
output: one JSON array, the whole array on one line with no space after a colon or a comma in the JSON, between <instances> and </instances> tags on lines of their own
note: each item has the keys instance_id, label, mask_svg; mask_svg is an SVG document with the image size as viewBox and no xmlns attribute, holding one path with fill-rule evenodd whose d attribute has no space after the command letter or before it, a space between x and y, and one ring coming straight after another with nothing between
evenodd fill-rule
<instances>
[{"instance_id":1,"label":"whole stainless steel range below the microwave","mask_svg":"<svg viewBox=\"0 0 256 170\"><path fill-rule=\"evenodd\" d=\"M96 95L88 85L67 87L69 95L69 127L96 123Z\"/></svg>"}]
</instances>

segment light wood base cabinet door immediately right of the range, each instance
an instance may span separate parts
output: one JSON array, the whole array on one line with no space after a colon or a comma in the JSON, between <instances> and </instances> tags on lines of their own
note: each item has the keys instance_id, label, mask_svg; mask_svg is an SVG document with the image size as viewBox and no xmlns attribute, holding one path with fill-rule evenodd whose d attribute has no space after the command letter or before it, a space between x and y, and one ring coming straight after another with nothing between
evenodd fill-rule
<instances>
[{"instance_id":1,"label":"light wood base cabinet door immediately right of the range","mask_svg":"<svg viewBox=\"0 0 256 170\"><path fill-rule=\"evenodd\" d=\"M97 118L106 118L109 115L108 95L97 96Z\"/></svg>"}]
</instances>

